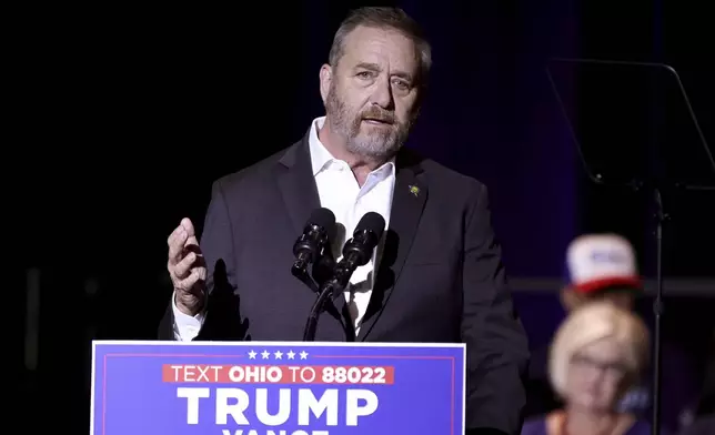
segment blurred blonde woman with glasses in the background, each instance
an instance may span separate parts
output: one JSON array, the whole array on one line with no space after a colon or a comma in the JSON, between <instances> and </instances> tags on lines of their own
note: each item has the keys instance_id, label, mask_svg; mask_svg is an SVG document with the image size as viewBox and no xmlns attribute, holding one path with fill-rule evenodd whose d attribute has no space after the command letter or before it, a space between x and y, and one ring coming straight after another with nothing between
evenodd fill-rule
<instances>
[{"instance_id":1,"label":"blurred blonde woman with glasses in the background","mask_svg":"<svg viewBox=\"0 0 715 435\"><path fill-rule=\"evenodd\" d=\"M530 419L522 435L649 435L651 425L617 411L648 358L648 331L637 315L591 302L560 326L548 376L564 407Z\"/></svg>"}]
</instances>

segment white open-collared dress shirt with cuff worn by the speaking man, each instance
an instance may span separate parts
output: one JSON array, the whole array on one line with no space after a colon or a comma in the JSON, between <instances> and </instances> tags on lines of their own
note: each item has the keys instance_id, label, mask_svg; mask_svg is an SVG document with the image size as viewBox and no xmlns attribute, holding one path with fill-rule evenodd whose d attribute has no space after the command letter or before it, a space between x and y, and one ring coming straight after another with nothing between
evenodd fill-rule
<instances>
[{"instance_id":1,"label":"white open-collared dress shirt with cuff worn by the speaking man","mask_svg":"<svg viewBox=\"0 0 715 435\"><path fill-rule=\"evenodd\" d=\"M318 139L318 130L322 128L323 122L325 122L324 117L313 120L309 146L321 206L330 209L335 214L339 231L332 247L333 255L340 261L343 244L352 237L358 222L365 213L380 213L385 219L385 229L389 226L395 185L395 164L392 160L372 171L365 183L360 186L348 163L335 159ZM350 279L350 286L345 291L355 335L360 332L362 317L370 302L381 246L382 243L367 264L355 270ZM173 295L171 301L174 314L174 337L179 341L193 340L201 330L204 313L195 316L183 314L177 308Z\"/></svg>"}]
</instances>

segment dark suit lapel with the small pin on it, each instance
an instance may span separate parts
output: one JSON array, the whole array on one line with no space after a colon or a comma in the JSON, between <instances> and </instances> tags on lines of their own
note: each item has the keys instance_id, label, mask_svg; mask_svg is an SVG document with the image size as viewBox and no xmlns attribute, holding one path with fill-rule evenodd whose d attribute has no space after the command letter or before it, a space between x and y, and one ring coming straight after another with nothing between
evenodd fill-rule
<instances>
[{"instance_id":1,"label":"dark suit lapel with the small pin on it","mask_svg":"<svg viewBox=\"0 0 715 435\"><path fill-rule=\"evenodd\" d=\"M377 279L362 321L359 341L364 341L382 314L400 277L427 200L427 185L419 161L409 151L397 155L390 225L380 259Z\"/></svg>"}]
</instances>

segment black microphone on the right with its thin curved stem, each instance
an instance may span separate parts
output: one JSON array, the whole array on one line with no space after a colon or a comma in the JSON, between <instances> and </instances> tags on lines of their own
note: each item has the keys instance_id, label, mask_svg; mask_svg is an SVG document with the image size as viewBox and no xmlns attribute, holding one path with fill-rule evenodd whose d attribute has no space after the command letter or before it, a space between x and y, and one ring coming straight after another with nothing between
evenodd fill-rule
<instances>
[{"instance_id":1,"label":"black microphone on the right with its thin curved stem","mask_svg":"<svg viewBox=\"0 0 715 435\"><path fill-rule=\"evenodd\" d=\"M355 269L367 264L384 231L385 220L379 213L365 213L358 222L353 237L343 245L343 257L333 269L333 277L320 286L318 299L305 323L303 341L315 341L318 317L322 313L325 302L348 286Z\"/></svg>"}]
</instances>

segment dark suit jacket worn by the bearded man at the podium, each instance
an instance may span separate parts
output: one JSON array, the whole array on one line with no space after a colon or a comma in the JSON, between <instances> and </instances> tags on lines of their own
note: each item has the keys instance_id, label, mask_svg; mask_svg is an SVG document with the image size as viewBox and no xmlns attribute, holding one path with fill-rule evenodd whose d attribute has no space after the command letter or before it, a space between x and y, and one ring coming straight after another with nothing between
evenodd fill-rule
<instances>
[{"instance_id":1,"label":"dark suit jacket worn by the bearded man at the podium","mask_svg":"<svg viewBox=\"0 0 715 435\"><path fill-rule=\"evenodd\" d=\"M212 296L197 340L302 340L315 294L290 272L292 246L319 206L308 136L214 183L201 236ZM464 342L467 427L520 432L528 351L483 184L403 149L356 337L343 307L339 297L320 317L316 341ZM172 322L169 308L161 338L173 338Z\"/></svg>"}]
</instances>

